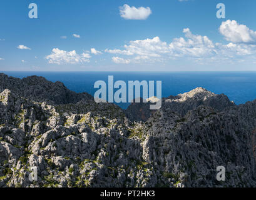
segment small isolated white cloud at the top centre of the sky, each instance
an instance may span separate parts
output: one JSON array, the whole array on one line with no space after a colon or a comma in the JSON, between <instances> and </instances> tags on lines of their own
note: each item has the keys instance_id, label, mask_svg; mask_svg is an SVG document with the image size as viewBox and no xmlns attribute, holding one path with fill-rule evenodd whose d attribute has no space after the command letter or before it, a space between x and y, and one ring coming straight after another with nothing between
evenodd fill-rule
<instances>
[{"instance_id":1,"label":"small isolated white cloud at the top centre of the sky","mask_svg":"<svg viewBox=\"0 0 256 200\"><path fill-rule=\"evenodd\" d=\"M128 6L127 4L120 7L120 16L124 19L147 19L151 14L151 9L149 7L135 8L135 6Z\"/></svg>"}]
</instances>

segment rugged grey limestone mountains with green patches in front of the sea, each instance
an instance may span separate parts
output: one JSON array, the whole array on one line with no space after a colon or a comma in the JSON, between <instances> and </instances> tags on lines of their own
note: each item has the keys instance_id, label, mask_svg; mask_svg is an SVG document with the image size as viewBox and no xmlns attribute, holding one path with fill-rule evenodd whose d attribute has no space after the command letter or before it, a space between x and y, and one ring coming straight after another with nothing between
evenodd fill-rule
<instances>
[{"instance_id":1,"label":"rugged grey limestone mountains with green patches in front of the sea","mask_svg":"<svg viewBox=\"0 0 256 200\"><path fill-rule=\"evenodd\" d=\"M135 121L61 83L0 79L1 187L256 186L255 102L235 106L197 88L154 113L133 107L146 117ZM31 166L38 181L29 181Z\"/></svg>"}]
</instances>

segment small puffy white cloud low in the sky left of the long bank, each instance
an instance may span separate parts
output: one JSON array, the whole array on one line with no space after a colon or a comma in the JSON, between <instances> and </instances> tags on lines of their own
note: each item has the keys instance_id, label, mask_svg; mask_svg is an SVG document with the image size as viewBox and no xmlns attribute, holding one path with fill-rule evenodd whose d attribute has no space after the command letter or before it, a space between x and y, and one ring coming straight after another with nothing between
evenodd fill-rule
<instances>
[{"instance_id":1,"label":"small puffy white cloud low in the sky left of the long bank","mask_svg":"<svg viewBox=\"0 0 256 200\"><path fill-rule=\"evenodd\" d=\"M50 64L79 64L89 63L90 54L77 54L76 51L64 51L54 48L49 56L46 56Z\"/></svg>"}]
</instances>

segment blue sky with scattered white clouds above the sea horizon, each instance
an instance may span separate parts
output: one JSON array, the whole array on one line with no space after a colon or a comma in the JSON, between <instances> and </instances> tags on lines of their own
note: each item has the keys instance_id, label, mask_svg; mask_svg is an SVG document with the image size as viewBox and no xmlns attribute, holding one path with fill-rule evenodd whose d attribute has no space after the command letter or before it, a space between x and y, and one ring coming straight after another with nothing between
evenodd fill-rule
<instances>
[{"instance_id":1,"label":"blue sky with scattered white clouds above the sea horizon","mask_svg":"<svg viewBox=\"0 0 256 200\"><path fill-rule=\"evenodd\" d=\"M225 19L216 17L220 2ZM30 3L38 19L28 17ZM254 0L3 0L0 70L254 71L255 8Z\"/></svg>"}]
</instances>

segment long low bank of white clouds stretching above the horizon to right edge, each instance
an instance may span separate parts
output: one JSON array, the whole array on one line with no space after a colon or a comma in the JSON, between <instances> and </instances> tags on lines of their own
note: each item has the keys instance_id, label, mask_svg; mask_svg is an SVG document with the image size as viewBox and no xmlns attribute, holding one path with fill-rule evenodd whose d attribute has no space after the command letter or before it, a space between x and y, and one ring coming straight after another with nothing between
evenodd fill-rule
<instances>
[{"instance_id":1,"label":"long low bank of white clouds stretching above the horizon to right edge","mask_svg":"<svg viewBox=\"0 0 256 200\"><path fill-rule=\"evenodd\" d=\"M220 61L244 58L256 54L256 45L213 43L207 36L193 34L190 29L183 29L185 37L174 38L170 44L156 36L152 39L130 41L123 49L106 49L106 53L119 54L113 57L115 63L151 63L168 59L193 59L194 61Z\"/></svg>"}]
</instances>

